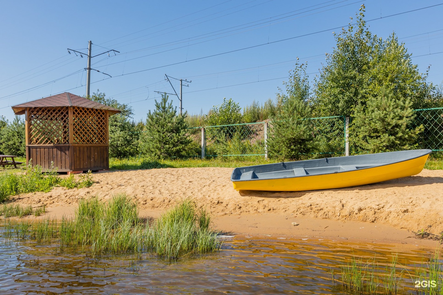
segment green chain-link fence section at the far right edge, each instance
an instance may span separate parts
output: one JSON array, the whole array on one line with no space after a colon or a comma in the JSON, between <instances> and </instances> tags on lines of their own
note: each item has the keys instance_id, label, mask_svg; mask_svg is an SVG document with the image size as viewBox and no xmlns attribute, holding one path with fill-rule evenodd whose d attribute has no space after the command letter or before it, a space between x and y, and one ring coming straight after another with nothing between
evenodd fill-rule
<instances>
[{"instance_id":1,"label":"green chain-link fence section at the far right edge","mask_svg":"<svg viewBox=\"0 0 443 295\"><path fill-rule=\"evenodd\" d=\"M424 130L419 135L421 149L443 151L443 107L420 109L416 111L416 126L422 124Z\"/></svg>"}]
</instances>

